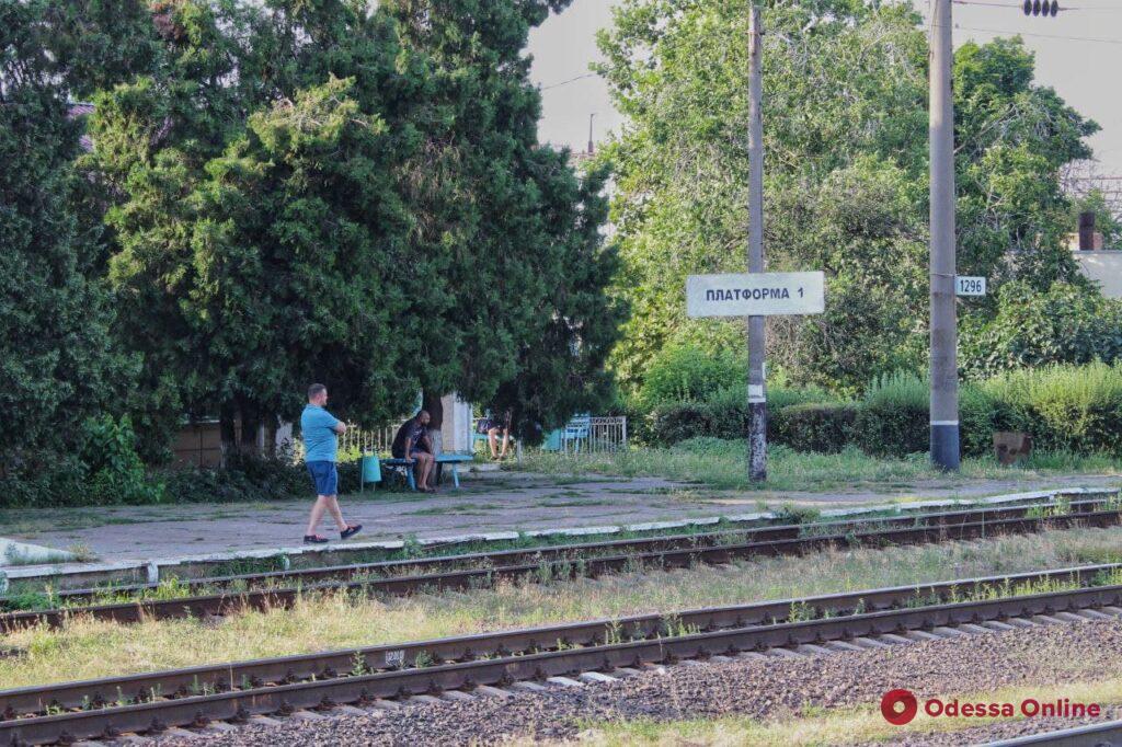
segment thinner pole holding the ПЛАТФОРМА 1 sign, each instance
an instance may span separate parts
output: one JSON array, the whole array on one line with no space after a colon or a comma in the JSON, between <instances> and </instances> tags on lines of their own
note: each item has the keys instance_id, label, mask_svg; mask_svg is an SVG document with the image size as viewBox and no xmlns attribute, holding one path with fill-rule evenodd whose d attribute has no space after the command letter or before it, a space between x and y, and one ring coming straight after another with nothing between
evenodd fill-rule
<instances>
[{"instance_id":1,"label":"thinner pole holding the \u041f\u041b\u0410\u0422\u0424\u041e\u0420\u041c\u0410 1 sign","mask_svg":"<svg viewBox=\"0 0 1122 747\"><path fill-rule=\"evenodd\" d=\"M949 0L948 0L949 1ZM755 0L748 13L748 273L764 271L763 39ZM748 477L767 478L767 398L764 389L764 317L748 322Z\"/></svg>"}]
</instances>

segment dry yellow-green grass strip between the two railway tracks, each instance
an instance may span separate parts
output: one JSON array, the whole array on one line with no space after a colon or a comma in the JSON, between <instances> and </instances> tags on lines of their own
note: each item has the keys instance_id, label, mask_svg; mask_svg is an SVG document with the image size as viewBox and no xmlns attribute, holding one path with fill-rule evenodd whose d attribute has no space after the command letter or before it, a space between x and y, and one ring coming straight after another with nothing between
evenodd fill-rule
<instances>
[{"instance_id":1,"label":"dry yellow-green grass strip between the two railway tracks","mask_svg":"<svg viewBox=\"0 0 1122 747\"><path fill-rule=\"evenodd\" d=\"M669 631L673 610L1122 562L1120 546L1122 527L1069 529L622 573L596 581L504 582L496 589L386 600L361 593L304 594L291 610L243 612L218 622L180 619L127 626L81 618L62 629L36 627L0 639L0 648L25 652L0 658L0 682L18 688L644 612L666 614Z\"/></svg>"}]
</instances>

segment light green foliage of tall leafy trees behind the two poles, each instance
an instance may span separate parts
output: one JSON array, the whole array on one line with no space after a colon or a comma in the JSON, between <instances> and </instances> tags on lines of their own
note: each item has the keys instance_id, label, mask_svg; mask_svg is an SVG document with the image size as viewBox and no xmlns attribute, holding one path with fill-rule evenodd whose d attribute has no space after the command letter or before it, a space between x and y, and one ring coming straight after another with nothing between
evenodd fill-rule
<instances>
[{"instance_id":1,"label":"light green foliage of tall leafy trees behind the two poles","mask_svg":"<svg viewBox=\"0 0 1122 747\"><path fill-rule=\"evenodd\" d=\"M675 340L724 342L698 332L719 323L684 319L681 283L744 267L746 8L626 0L600 36L629 120L605 156L617 169L617 292L633 308L611 363L629 390ZM827 276L826 313L771 321L769 354L795 382L857 395L927 362L927 43L909 3L763 12L769 266ZM1087 157L1097 126L1033 83L1020 40L963 45L954 74L959 270L1036 293L1075 282L1058 170ZM978 324L994 312L992 298L963 306Z\"/></svg>"}]
</instances>

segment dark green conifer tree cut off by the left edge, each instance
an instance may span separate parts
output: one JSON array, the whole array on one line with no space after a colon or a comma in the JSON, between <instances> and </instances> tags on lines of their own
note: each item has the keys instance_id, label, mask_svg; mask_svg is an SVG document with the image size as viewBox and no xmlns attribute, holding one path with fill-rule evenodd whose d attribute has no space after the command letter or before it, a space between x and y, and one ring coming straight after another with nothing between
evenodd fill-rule
<instances>
[{"instance_id":1,"label":"dark green conifer tree cut off by the left edge","mask_svg":"<svg viewBox=\"0 0 1122 747\"><path fill-rule=\"evenodd\" d=\"M75 424L117 408L134 369L74 204L80 123L48 54L49 9L0 0L0 478L33 481L74 446Z\"/></svg>"}]
</instances>

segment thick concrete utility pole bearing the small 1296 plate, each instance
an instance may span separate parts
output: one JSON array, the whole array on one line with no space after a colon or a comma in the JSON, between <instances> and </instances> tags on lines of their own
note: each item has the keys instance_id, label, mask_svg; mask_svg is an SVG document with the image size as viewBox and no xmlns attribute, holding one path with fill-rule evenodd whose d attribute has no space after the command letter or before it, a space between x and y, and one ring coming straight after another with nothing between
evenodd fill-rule
<instances>
[{"instance_id":1,"label":"thick concrete utility pole bearing the small 1296 plate","mask_svg":"<svg viewBox=\"0 0 1122 747\"><path fill-rule=\"evenodd\" d=\"M958 320L955 308L955 104L951 0L931 0L931 461L958 469Z\"/></svg>"}]
</instances>

